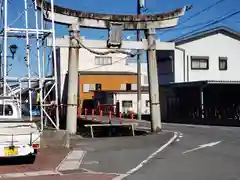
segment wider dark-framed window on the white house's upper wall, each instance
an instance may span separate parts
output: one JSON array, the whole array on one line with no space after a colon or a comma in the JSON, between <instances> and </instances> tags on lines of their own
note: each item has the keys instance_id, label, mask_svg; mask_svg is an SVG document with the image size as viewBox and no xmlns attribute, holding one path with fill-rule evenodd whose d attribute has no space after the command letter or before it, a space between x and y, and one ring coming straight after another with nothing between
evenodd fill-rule
<instances>
[{"instance_id":1,"label":"wider dark-framed window on the white house's upper wall","mask_svg":"<svg viewBox=\"0 0 240 180\"><path fill-rule=\"evenodd\" d=\"M209 57L205 56L191 56L191 69L207 70Z\"/></svg>"}]
</instances>

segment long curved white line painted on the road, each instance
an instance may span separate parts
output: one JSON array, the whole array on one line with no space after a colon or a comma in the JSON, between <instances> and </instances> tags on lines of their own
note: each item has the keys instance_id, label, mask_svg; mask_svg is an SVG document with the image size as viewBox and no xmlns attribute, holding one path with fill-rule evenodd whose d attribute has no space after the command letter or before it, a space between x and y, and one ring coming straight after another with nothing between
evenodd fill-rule
<instances>
[{"instance_id":1,"label":"long curved white line painted on the road","mask_svg":"<svg viewBox=\"0 0 240 180\"><path fill-rule=\"evenodd\" d=\"M167 146L169 146L175 139L178 137L178 133L174 132L174 136L163 146L161 146L157 151L152 153L150 156L148 156L145 160L143 160L139 165L137 165L135 168L130 169L126 174L122 174L118 177L113 178L112 180L122 180L126 178L127 176L137 172L139 169L141 169L148 161L150 161L152 158L154 158L158 153L163 151Z\"/></svg>"}]
</instances>

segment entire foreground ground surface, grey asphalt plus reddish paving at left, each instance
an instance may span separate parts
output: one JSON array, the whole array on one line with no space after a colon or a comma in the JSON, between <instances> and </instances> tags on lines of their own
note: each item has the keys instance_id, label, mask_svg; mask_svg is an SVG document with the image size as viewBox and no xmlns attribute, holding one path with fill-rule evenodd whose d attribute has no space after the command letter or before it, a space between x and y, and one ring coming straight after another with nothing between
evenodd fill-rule
<instances>
[{"instance_id":1,"label":"entire foreground ground surface, grey asphalt plus reddish paving at left","mask_svg":"<svg viewBox=\"0 0 240 180\"><path fill-rule=\"evenodd\" d=\"M149 122L140 122L139 125L139 128L143 129L150 127ZM148 136L76 139L75 150L86 152L83 159L79 156L80 167L71 172L60 172L63 176L54 175L45 178L240 180L239 128L164 124L163 129L165 131L160 134ZM179 132L178 137L170 146L162 149L164 144L172 139L172 132ZM57 150L51 151L49 154L51 157L54 157L53 152L59 154L56 153ZM41 161L34 166L2 167L0 171L10 173L11 169L11 172L13 170L24 173L47 170L56 167L56 164L50 166L51 163L55 163L54 159L56 158L46 156L40 158ZM19 180L42 178L44 177L24 177Z\"/></svg>"}]
</instances>

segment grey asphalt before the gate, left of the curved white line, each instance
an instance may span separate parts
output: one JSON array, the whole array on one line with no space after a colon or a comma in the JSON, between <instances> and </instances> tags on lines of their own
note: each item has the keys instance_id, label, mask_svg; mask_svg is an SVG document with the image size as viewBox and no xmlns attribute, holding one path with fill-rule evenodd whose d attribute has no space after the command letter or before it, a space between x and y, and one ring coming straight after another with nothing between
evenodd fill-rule
<instances>
[{"instance_id":1,"label":"grey asphalt before the gate, left of the curved white line","mask_svg":"<svg viewBox=\"0 0 240 180\"><path fill-rule=\"evenodd\" d=\"M85 150L80 169L124 174L173 137L172 132L158 135L83 139L75 150Z\"/></svg>"}]
</instances>

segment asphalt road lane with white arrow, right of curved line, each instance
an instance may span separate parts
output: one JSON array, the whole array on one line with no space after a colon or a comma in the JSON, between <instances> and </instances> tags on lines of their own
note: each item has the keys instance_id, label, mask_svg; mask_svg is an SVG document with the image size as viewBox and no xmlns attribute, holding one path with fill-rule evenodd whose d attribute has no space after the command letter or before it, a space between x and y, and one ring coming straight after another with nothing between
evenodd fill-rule
<instances>
[{"instance_id":1,"label":"asphalt road lane with white arrow, right of curved line","mask_svg":"<svg viewBox=\"0 0 240 180\"><path fill-rule=\"evenodd\" d=\"M183 135L124 179L240 180L239 128L164 125L164 129Z\"/></svg>"}]
</instances>

